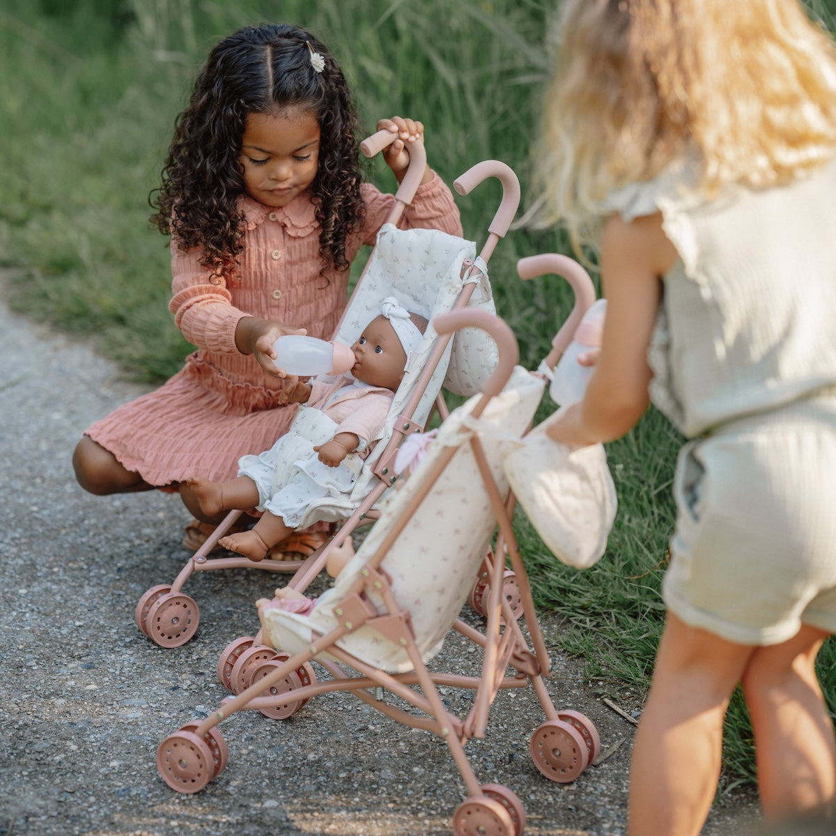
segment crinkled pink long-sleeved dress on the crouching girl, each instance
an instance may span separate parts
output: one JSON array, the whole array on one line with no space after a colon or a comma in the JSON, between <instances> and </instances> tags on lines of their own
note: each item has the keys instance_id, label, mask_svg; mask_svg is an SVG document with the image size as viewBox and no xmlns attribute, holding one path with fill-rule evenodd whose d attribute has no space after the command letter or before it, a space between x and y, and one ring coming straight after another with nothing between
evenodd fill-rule
<instances>
[{"instance_id":1,"label":"crinkled pink long-sleeved dress on the crouching girl","mask_svg":"<svg viewBox=\"0 0 836 836\"><path fill-rule=\"evenodd\" d=\"M366 217L346 244L349 261L363 244L374 245L395 203L375 186L362 188ZM215 481L232 478L241 456L273 446L293 421L297 405L285 404L283 380L265 375L252 355L237 350L239 319L276 320L330 339L348 301L347 273L319 274L319 227L307 196L276 209L246 196L241 205L247 236L235 280L211 276L196 251L171 248L169 308L197 351L160 389L85 431L151 485L196 473ZM456 204L441 178L419 186L400 227L461 235Z\"/></svg>"}]
</instances>

